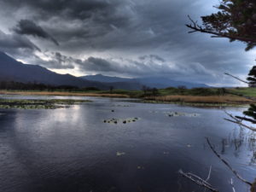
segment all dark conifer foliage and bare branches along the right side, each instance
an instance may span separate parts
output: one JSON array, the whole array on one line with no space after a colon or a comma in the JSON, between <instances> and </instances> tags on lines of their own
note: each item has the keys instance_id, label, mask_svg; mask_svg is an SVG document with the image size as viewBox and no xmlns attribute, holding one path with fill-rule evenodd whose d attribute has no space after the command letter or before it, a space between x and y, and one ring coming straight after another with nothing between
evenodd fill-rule
<instances>
[{"instance_id":1,"label":"all dark conifer foliage and bare branches along the right side","mask_svg":"<svg viewBox=\"0 0 256 192\"><path fill-rule=\"evenodd\" d=\"M186 25L190 29L192 29L192 31L190 31L189 33L209 33L212 34L212 38L229 38L230 42L241 41L247 44L246 50L253 49L253 47L256 46L256 1L222 0L216 8L218 9L218 13L201 17L201 25L199 25L197 21L192 20L189 17L191 23ZM229 73L226 74L230 75ZM232 77L247 83L250 87L256 87L256 66L251 69L251 71L248 73L248 76L248 82L238 79L234 76ZM255 102L256 99L254 98L253 100ZM232 114L227 113L230 116L230 119L226 120L229 120L232 123L236 123L237 125L241 125L242 127L245 127L251 131L256 131L256 128L254 128L253 126L249 126L242 122L243 120L245 120L247 122L256 124L256 105L251 104L250 108L248 108L247 111L243 113L246 115L246 117L233 116ZM224 164L228 166L230 170L236 175L236 177L238 177L243 183L247 183L248 185L250 185L251 192L255 192L256 181L254 181L254 183L250 183L247 180L243 179L235 170L232 169L229 163L224 160L221 155L218 154L218 152L212 147L212 144L210 143L208 138L207 143L209 144L213 153L218 156L219 160L222 160ZM189 178L194 183L197 183L207 189L215 191L215 189L212 188L212 185L210 183L207 183L207 179L202 179L201 177L198 177L190 172L185 173L181 171L180 173L183 175L183 177ZM232 189L233 191L236 191L234 185L232 185Z\"/></svg>"}]
</instances>

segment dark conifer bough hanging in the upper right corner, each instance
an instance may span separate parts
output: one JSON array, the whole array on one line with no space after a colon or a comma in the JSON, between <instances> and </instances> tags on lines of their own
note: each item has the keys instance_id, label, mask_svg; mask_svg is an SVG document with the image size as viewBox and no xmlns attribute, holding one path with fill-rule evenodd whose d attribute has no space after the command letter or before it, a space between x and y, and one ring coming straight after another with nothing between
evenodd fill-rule
<instances>
[{"instance_id":1,"label":"dark conifer bough hanging in the upper right corner","mask_svg":"<svg viewBox=\"0 0 256 192\"><path fill-rule=\"evenodd\" d=\"M202 24L191 20L186 25L193 31L212 34L212 38L230 38L247 44L246 50L256 46L256 3L255 0L222 0L216 7L218 13L202 16Z\"/></svg>"}]
</instances>

